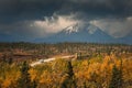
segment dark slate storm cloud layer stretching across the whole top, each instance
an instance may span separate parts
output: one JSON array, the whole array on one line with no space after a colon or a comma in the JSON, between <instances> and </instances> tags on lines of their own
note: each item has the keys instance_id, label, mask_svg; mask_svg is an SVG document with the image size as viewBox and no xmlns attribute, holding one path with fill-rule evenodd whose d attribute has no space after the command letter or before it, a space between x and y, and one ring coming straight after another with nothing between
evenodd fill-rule
<instances>
[{"instance_id":1,"label":"dark slate storm cloud layer stretching across the whole top","mask_svg":"<svg viewBox=\"0 0 132 88\"><path fill-rule=\"evenodd\" d=\"M1 23L41 20L55 12L64 15L78 12L90 18L125 18L132 14L132 0L0 0Z\"/></svg>"}]
</instances>

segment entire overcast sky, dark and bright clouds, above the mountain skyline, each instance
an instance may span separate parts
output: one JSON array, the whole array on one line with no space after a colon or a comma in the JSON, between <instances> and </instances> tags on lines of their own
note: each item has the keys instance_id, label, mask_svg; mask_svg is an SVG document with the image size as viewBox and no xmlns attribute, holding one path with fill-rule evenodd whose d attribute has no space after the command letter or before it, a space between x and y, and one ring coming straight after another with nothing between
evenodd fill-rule
<instances>
[{"instance_id":1,"label":"entire overcast sky, dark and bright clouds, above the mountain skyline","mask_svg":"<svg viewBox=\"0 0 132 88\"><path fill-rule=\"evenodd\" d=\"M76 23L132 34L132 0L0 0L0 34L45 37Z\"/></svg>"}]
</instances>

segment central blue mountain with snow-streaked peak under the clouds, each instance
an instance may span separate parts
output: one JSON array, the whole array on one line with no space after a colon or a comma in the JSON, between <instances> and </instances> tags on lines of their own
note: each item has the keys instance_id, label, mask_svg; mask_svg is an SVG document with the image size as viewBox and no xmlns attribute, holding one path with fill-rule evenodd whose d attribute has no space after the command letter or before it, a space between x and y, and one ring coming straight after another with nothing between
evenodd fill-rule
<instances>
[{"instance_id":1,"label":"central blue mountain with snow-streaked peak under the clouds","mask_svg":"<svg viewBox=\"0 0 132 88\"><path fill-rule=\"evenodd\" d=\"M91 24L74 24L65 28L59 33L35 42L57 43L57 42L92 42L112 43L113 37Z\"/></svg>"}]
</instances>

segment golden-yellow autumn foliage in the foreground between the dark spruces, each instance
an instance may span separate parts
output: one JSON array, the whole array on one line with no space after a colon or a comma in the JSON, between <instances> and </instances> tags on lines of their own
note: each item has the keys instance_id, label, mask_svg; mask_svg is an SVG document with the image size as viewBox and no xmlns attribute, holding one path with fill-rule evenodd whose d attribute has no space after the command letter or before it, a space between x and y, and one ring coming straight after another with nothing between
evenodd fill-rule
<instances>
[{"instance_id":1,"label":"golden-yellow autumn foliage in the foreground between the dark spruces","mask_svg":"<svg viewBox=\"0 0 132 88\"><path fill-rule=\"evenodd\" d=\"M84 88L86 86L91 88L99 86L100 88L108 88L112 75L112 67L116 65L120 68L121 59L123 80L127 84L125 88L131 86L132 59L124 57L118 58L116 55L106 55L103 58L92 57L72 62L77 87ZM48 64L31 67L29 74L31 75L32 81L37 81L38 88L57 88L67 78L66 65L65 59L56 59ZM4 73L0 75L0 86L2 88L16 88L19 77L19 66L15 64L12 66L6 65Z\"/></svg>"}]
</instances>

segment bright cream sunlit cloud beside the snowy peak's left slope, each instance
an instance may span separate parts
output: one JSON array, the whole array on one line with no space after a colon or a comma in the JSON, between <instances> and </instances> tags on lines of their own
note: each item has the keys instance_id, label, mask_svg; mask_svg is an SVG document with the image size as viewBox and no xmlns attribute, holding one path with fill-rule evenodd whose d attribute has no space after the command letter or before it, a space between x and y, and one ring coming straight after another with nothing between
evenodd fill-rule
<instances>
[{"instance_id":1,"label":"bright cream sunlit cloud beside the snowy peak's left slope","mask_svg":"<svg viewBox=\"0 0 132 88\"><path fill-rule=\"evenodd\" d=\"M34 21L33 26L45 30L46 33L57 33L67 26L80 23L79 20L74 20L75 15L57 15L45 16L44 21Z\"/></svg>"}]
</instances>

